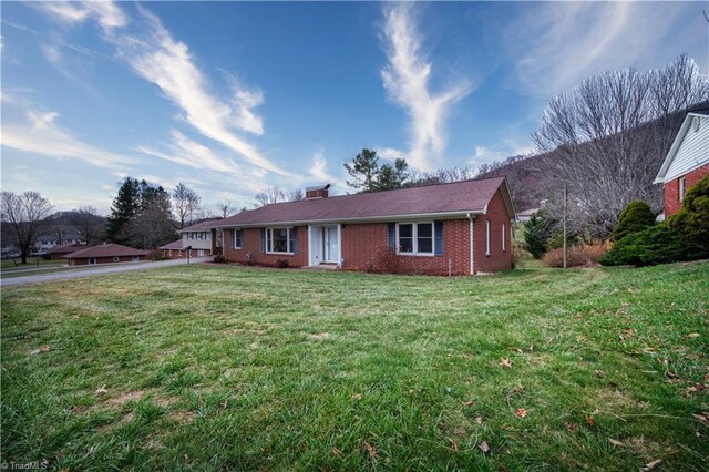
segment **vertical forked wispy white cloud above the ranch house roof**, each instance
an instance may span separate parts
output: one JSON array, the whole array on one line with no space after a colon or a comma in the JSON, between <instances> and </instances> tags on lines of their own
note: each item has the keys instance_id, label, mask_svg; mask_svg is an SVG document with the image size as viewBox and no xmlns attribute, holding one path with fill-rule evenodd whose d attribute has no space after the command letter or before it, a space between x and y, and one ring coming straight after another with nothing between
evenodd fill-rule
<instances>
[{"instance_id":1,"label":"vertical forked wispy white cloud above the ranch house roof","mask_svg":"<svg viewBox=\"0 0 709 472\"><path fill-rule=\"evenodd\" d=\"M446 142L445 117L453 104L472 90L469 81L430 90L432 64L421 51L421 39L412 19L412 6L399 3L384 9L384 40L389 63L381 71L389 98L407 110L411 119L409 164L421 171L440 166Z\"/></svg>"}]
</instances>

